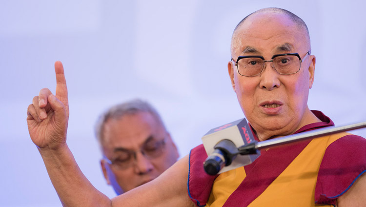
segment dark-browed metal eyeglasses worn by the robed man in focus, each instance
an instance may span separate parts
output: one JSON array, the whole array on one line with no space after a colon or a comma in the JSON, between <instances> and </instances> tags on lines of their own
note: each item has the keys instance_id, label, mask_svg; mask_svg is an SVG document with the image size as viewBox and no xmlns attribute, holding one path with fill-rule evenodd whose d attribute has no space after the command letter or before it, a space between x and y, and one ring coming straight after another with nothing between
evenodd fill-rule
<instances>
[{"instance_id":1,"label":"dark-browed metal eyeglasses worn by the robed man in focus","mask_svg":"<svg viewBox=\"0 0 366 207\"><path fill-rule=\"evenodd\" d=\"M310 55L310 51L306 53L303 60L308 55ZM265 62L272 62L272 67L281 75L294 74L300 71L303 60L299 53L277 54L268 61L264 60L263 56L258 55L239 56L236 62L231 58L231 61L235 62L235 66L238 68L238 73L246 77L261 74L265 68Z\"/></svg>"}]
</instances>

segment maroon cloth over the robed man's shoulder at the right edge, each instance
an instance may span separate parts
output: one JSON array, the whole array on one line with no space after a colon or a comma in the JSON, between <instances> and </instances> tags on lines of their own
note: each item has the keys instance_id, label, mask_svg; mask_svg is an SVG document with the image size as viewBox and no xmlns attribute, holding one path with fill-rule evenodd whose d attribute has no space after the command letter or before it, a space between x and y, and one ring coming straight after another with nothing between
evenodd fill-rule
<instances>
[{"instance_id":1,"label":"maroon cloth over the robed man's shoulder at the right edge","mask_svg":"<svg viewBox=\"0 0 366 207\"><path fill-rule=\"evenodd\" d=\"M347 133L329 139L319 167L315 199L335 203L366 170L366 139Z\"/></svg>"}]
</instances>

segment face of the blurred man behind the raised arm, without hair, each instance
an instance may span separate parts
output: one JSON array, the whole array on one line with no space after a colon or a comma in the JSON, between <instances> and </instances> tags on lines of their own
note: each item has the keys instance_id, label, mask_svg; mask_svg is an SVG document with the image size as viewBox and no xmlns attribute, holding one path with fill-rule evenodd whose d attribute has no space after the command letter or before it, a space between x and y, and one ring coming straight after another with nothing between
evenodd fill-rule
<instances>
[{"instance_id":1,"label":"face of the blurred man behind the raised arm, without hair","mask_svg":"<svg viewBox=\"0 0 366 207\"><path fill-rule=\"evenodd\" d=\"M109 160L121 161L126 159L126 151L136 152L136 159L132 156L133 164L124 169L101 161L104 177L117 194L155 179L179 157L169 133L148 112L108 120L104 125L103 137L103 153ZM159 155L147 158L141 153L141 149L154 150L155 143L161 143L164 138L165 145Z\"/></svg>"}]
</instances>

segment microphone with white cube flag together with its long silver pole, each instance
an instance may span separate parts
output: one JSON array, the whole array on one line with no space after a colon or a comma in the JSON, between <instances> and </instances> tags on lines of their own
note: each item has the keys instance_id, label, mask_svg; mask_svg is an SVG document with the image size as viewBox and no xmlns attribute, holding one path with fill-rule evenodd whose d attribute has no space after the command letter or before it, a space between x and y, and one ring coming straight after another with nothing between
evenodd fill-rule
<instances>
[{"instance_id":1,"label":"microphone with white cube flag together with its long silver pole","mask_svg":"<svg viewBox=\"0 0 366 207\"><path fill-rule=\"evenodd\" d=\"M202 137L204 149L206 150L207 155L209 155L203 162L203 168L209 175L220 174L237 167L251 164L260 156L260 149L314 139L364 127L366 127L366 122L338 127L329 126L257 142L254 140L251 131L249 131L249 125L246 123L246 120L241 119L211 129ZM228 137L228 139L223 139L223 137Z\"/></svg>"}]
</instances>

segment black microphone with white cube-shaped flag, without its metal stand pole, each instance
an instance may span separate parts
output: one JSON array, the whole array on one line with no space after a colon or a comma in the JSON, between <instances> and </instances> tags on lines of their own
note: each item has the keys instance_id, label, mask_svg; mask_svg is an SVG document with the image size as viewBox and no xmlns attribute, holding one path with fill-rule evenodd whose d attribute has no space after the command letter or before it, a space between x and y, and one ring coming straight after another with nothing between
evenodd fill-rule
<instances>
[{"instance_id":1,"label":"black microphone with white cube-shaped flag, without its metal stand pole","mask_svg":"<svg viewBox=\"0 0 366 207\"><path fill-rule=\"evenodd\" d=\"M256 149L254 154L239 154L238 147L256 142L245 119L211 129L202 142L208 155L203 168L210 175L249 165L260 155Z\"/></svg>"}]
</instances>

